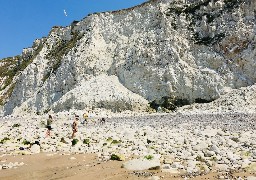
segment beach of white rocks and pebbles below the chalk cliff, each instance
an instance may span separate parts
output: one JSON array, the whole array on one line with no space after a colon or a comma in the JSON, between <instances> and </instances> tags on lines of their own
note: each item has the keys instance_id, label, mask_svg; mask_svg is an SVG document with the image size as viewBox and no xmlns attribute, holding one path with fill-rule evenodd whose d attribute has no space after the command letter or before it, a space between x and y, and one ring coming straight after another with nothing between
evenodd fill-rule
<instances>
[{"instance_id":1,"label":"beach of white rocks and pebbles below the chalk cliff","mask_svg":"<svg viewBox=\"0 0 256 180\"><path fill-rule=\"evenodd\" d=\"M98 163L122 161L119 170L122 167L128 172L136 172L141 178L146 177L140 173L148 170L152 177L156 172L177 178L211 173L216 173L214 178L220 179L238 179L239 175L233 175L235 173L246 173L245 177L240 177L242 179L256 177L255 114L109 117L104 124L99 121L79 123L75 139L70 139L72 117L65 113L56 114L51 137L45 137L43 122L46 116L1 119L1 157L48 153L70 155L72 159L74 154L91 154ZM20 166L24 163L1 161L3 171ZM168 176L157 177L164 179Z\"/></svg>"}]
</instances>

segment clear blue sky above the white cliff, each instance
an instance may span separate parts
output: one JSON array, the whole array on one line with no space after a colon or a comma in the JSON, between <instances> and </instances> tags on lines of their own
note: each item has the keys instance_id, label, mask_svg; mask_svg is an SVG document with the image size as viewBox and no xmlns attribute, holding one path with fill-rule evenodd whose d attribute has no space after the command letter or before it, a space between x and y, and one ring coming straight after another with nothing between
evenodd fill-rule
<instances>
[{"instance_id":1,"label":"clear blue sky above the white cliff","mask_svg":"<svg viewBox=\"0 0 256 180\"><path fill-rule=\"evenodd\" d=\"M67 26L89 13L129 8L146 1L0 0L0 59L21 54L55 25Z\"/></svg>"}]
</instances>

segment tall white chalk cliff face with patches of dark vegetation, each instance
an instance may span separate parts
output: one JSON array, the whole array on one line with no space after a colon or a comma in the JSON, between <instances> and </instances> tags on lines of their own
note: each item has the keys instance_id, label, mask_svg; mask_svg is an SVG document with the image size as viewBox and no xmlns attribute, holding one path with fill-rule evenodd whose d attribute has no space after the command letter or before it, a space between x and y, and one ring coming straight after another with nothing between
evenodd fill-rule
<instances>
[{"instance_id":1,"label":"tall white chalk cliff face with patches of dark vegetation","mask_svg":"<svg viewBox=\"0 0 256 180\"><path fill-rule=\"evenodd\" d=\"M256 82L255 34L255 0L154 0L92 14L24 49L24 67L0 91L4 112L212 101Z\"/></svg>"}]
</instances>

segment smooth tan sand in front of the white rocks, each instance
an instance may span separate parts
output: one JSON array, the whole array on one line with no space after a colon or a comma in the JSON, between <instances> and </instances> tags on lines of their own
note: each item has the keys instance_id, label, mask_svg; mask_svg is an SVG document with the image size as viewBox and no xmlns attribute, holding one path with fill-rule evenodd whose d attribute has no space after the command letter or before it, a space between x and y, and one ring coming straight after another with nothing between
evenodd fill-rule
<instances>
[{"instance_id":1,"label":"smooth tan sand in front of the white rocks","mask_svg":"<svg viewBox=\"0 0 256 180\"><path fill-rule=\"evenodd\" d=\"M128 171L121 168L122 162L99 162L94 154L49 154L40 153L34 155L2 156L1 161L24 162L24 166L2 170L0 179L25 180L25 179L90 179L90 180L137 180L153 179L158 176L161 179L184 179L180 174L163 173L159 170ZM193 179L218 179L229 177L230 179L245 179L255 176L256 173L210 173Z\"/></svg>"}]
</instances>

